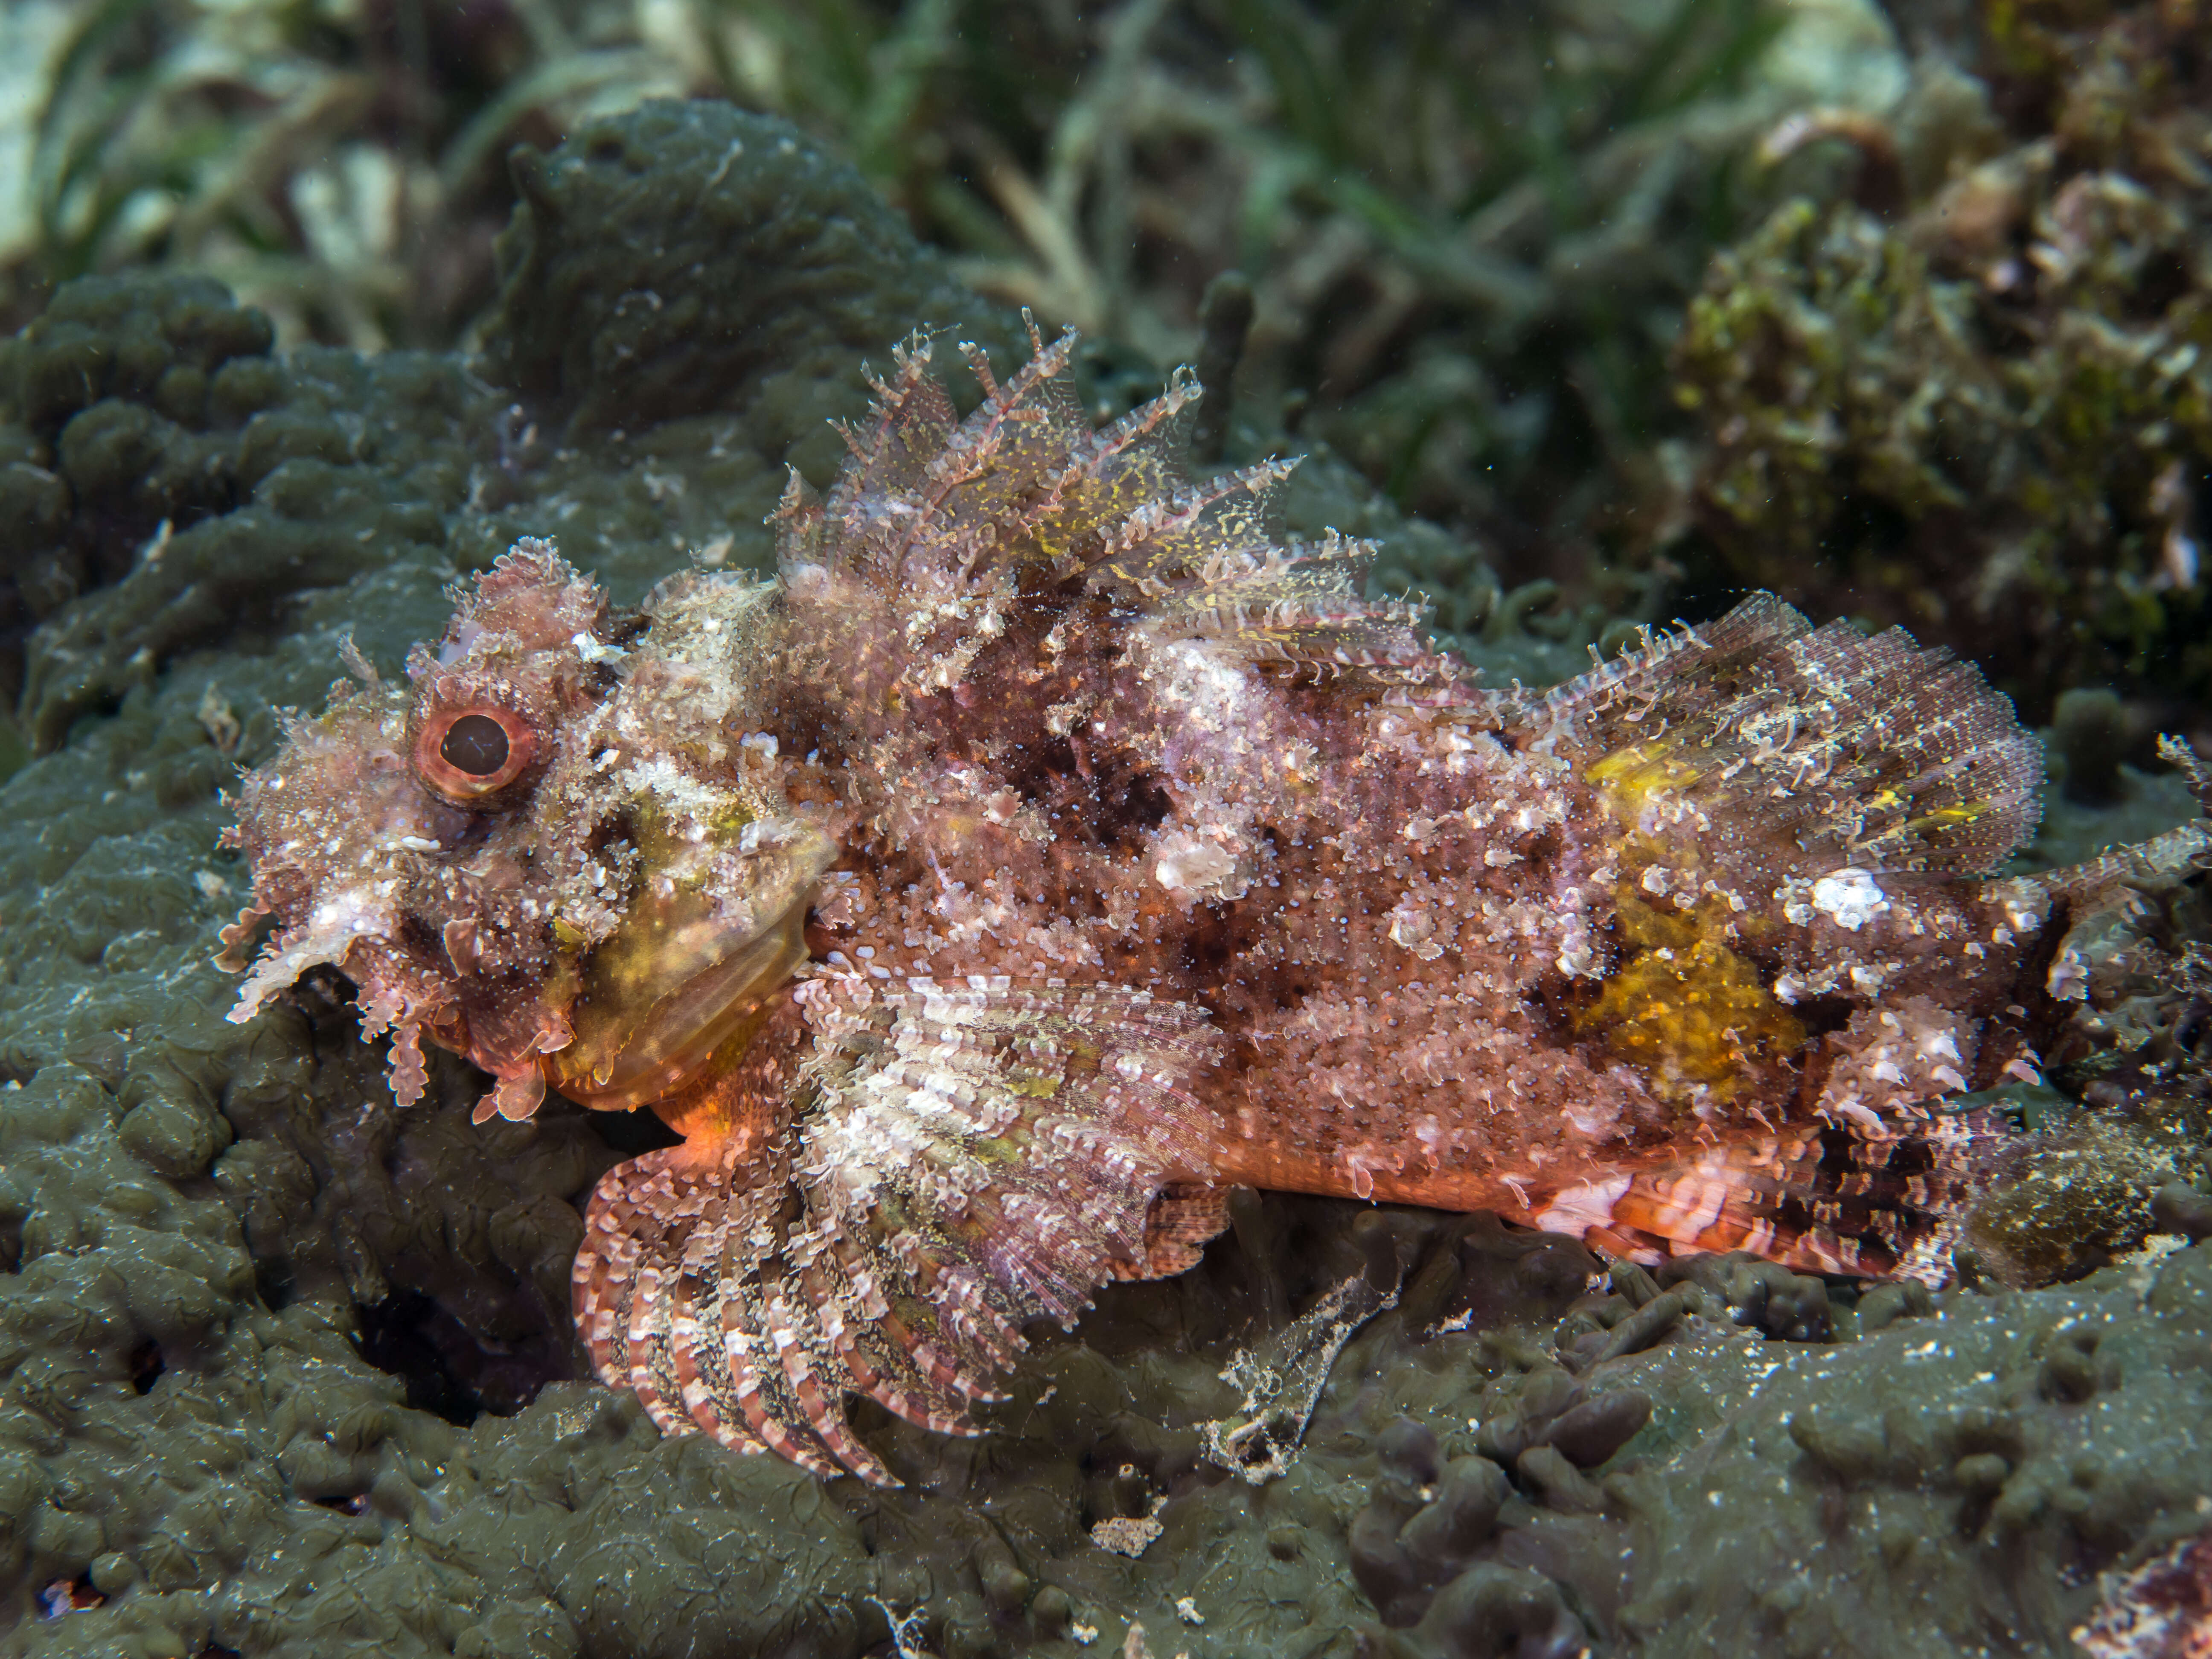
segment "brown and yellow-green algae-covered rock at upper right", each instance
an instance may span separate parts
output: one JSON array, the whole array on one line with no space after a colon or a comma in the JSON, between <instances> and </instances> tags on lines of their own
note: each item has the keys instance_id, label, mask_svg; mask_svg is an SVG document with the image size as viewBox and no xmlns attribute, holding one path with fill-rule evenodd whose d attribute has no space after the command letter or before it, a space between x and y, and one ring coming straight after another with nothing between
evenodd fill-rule
<instances>
[{"instance_id":1,"label":"brown and yellow-green algae-covered rock at upper right","mask_svg":"<svg viewBox=\"0 0 2212 1659\"><path fill-rule=\"evenodd\" d=\"M1902 210L1798 197L1714 261L1674 347L1690 546L1973 655L2033 719L2119 684L2201 723L2203 20L1991 4L1980 33L1982 77L1929 62L1856 128Z\"/></svg>"}]
</instances>

